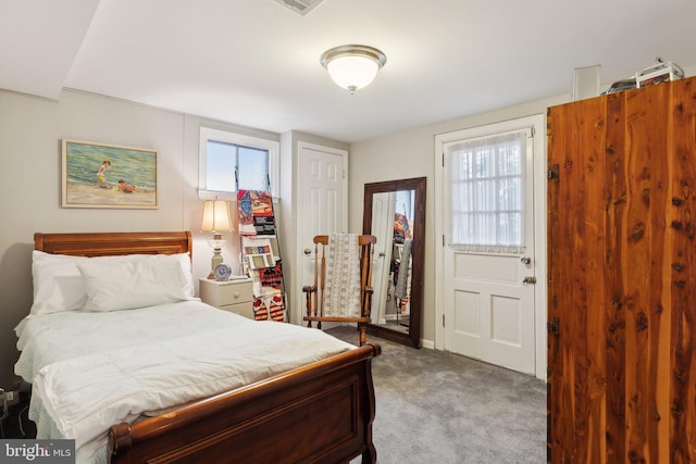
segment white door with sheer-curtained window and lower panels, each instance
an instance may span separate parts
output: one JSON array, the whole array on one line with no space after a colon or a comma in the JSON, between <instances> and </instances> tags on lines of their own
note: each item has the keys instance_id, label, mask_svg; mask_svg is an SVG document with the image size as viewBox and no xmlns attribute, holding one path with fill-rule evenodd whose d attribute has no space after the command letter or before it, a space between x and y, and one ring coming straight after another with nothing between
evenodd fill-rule
<instances>
[{"instance_id":1,"label":"white door with sheer-curtained window and lower panels","mask_svg":"<svg viewBox=\"0 0 696 464\"><path fill-rule=\"evenodd\" d=\"M534 129L502 124L449 136L442 143L446 348L534 374Z\"/></svg>"}]
</instances>

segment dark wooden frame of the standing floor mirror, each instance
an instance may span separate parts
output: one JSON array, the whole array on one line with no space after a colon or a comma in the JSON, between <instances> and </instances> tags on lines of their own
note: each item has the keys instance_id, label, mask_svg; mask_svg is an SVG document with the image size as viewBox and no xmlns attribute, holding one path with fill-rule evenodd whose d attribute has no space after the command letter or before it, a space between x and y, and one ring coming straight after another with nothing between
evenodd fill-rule
<instances>
[{"instance_id":1,"label":"dark wooden frame of the standing floor mirror","mask_svg":"<svg viewBox=\"0 0 696 464\"><path fill-rule=\"evenodd\" d=\"M414 190L413 217L413 252L411 254L411 301L409 333L400 333L390 328L368 324L368 334L421 348L421 329L423 324L423 269L425 260L425 177L395 179L365 184L365 196L362 209L362 233L372 233L372 200L375 193Z\"/></svg>"}]
</instances>

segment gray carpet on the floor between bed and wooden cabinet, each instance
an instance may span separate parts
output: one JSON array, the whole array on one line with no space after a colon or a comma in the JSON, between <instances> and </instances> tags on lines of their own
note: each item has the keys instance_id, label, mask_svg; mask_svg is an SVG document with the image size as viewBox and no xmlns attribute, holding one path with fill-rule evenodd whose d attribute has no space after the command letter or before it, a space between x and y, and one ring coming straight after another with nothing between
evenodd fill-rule
<instances>
[{"instance_id":1,"label":"gray carpet on the floor between bed and wooden cabinet","mask_svg":"<svg viewBox=\"0 0 696 464\"><path fill-rule=\"evenodd\" d=\"M328 333L358 342L352 327ZM373 360L380 464L546 462L542 380L442 351L368 341L382 346Z\"/></svg>"}]
</instances>

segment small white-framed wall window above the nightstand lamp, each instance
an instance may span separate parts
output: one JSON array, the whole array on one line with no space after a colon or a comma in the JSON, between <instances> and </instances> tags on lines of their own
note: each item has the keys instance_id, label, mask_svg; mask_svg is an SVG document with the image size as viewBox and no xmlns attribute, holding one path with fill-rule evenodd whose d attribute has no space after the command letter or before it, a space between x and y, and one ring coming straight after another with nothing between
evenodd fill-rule
<instances>
[{"instance_id":1,"label":"small white-framed wall window above the nightstand lamp","mask_svg":"<svg viewBox=\"0 0 696 464\"><path fill-rule=\"evenodd\" d=\"M200 128L198 196L235 200L238 190L278 193L279 143L225 130Z\"/></svg>"}]
</instances>

